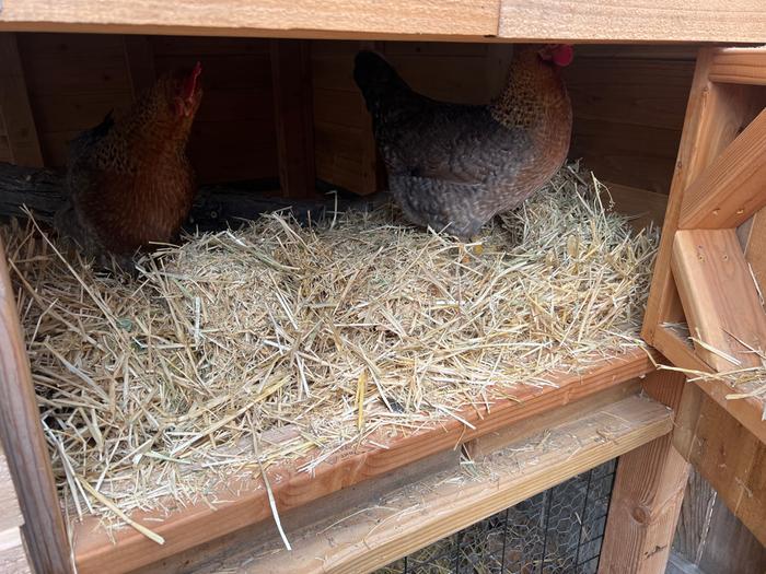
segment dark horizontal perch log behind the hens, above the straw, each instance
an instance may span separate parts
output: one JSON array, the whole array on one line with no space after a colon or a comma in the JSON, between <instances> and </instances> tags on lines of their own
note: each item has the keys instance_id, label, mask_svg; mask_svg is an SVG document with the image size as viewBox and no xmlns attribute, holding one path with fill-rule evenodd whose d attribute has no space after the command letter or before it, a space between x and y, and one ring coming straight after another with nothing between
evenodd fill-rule
<instances>
[{"instance_id":1,"label":"dark horizontal perch log behind the hens, above the straw","mask_svg":"<svg viewBox=\"0 0 766 574\"><path fill-rule=\"evenodd\" d=\"M334 201L301 201L265 198L247 184L204 185L185 227L200 231L239 226L243 221L257 219L262 213L289 209L293 216L305 223L311 218L318 221L334 209ZM0 162L0 218L24 216L22 206L42 222L51 223L56 210L66 197L65 175L51 169L20 167ZM363 201L338 200L338 209L350 206L364 207Z\"/></svg>"}]
</instances>

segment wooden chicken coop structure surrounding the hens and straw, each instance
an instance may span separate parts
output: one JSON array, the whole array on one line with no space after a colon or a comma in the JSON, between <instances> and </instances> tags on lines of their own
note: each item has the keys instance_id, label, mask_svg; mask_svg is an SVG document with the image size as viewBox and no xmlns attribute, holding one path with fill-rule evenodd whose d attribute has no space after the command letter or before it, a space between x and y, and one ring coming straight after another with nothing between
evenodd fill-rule
<instances>
[{"instance_id":1,"label":"wooden chicken coop structure surrounding the hens and straw","mask_svg":"<svg viewBox=\"0 0 766 574\"><path fill-rule=\"evenodd\" d=\"M373 572L583 472L591 472L590 489L600 476L592 469L618 457L597 572L763 572L759 0L661 9L565 0L5 0L0 216L23 215L23 203L40 221L49 218L61 202L68 142L111 109L130 106L160 73L195 61L205 96L187 148L199 184L192 223L217 229L287 204L329 213L327 191L337 190L343 203L386 187L351 75L360 49L385 55L430 97L486 104L506 81L514 44L556 40L576 45L565 72L574 117L569 159L608 188L636 233L662 229L646 345L593 349L578 368L539 375L545 384L495 395L490 387L491 400L441 408L429 423L381 426L332 453L292 453L266 468L255 457L249 478L183 504L136 503L130 516L100 492L103 476L65 469L82 479L68 487L76 495L126 524L107 529L88 508L82 519L69 516L66 481L54 476L67 458L40 424L49 406L38 403L42 378L30 351L39 325L24 317L42 288L31 280L20 286L20 267L34 259L22 242L0 258L0 570ZM577 177L589 184L590 175ZM81 372L62 364L70 375ZM361 396L348 401L363 405L373 385L359 380ZM88 426L91 407L82 408ZM93 425L95 417L93 410ZM361 426L361 408L359 420ZM286 452L300 434L290 425L268 433L258 441L283 443ZM127 458L138 467L146 453Z\"/></svg>"}]
</instances>

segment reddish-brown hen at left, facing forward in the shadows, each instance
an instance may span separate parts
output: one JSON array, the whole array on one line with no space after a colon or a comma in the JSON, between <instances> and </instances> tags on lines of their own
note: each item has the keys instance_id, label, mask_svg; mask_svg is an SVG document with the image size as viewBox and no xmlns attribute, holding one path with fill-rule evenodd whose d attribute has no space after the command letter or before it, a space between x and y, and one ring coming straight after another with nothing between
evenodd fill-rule
<instances>
[{"instance_id":1,"label":"reddish-brown hen at left, facing forward in the shadows","mask_svg":"<svg viewBox=\"0 0 766 574\"><path fill-rule=\"evenodd\" d=\"M186 142L202 92L199 63L185 78L167 73L125 114L109 114L70 144L68 198L59 233L105 265L175 238L192 209L194 173Z\"/></svg>"}]
</instances>

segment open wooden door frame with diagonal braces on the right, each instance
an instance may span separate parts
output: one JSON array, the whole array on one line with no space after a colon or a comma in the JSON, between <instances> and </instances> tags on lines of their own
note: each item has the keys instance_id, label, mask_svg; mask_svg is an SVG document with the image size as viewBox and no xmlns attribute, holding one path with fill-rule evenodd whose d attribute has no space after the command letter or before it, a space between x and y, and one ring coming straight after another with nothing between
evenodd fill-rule
<instances>
[{"instance_id":1,"label":"open wooden door frame with diagonal braces on the right","mask_svg":"<svg viewBox=\"0 0 766 574\"><path fill-rule=\"evenodd\" d=\"M716 351L745 366L757 363L748 345L766 349L766 316L747 267L757 276L766 258L748 257L747 245L743 255L735 234L766 206L763 85L766 48L700 50L642 329L647 342L683 368L731 371L736 364ZM751 225L762 227L765 219ZM695 350L675 327L684 320L716 351ZM727 400L731 388L722 380L698 385L766 442L762 399Z\"/></svg>"}]
</instances>

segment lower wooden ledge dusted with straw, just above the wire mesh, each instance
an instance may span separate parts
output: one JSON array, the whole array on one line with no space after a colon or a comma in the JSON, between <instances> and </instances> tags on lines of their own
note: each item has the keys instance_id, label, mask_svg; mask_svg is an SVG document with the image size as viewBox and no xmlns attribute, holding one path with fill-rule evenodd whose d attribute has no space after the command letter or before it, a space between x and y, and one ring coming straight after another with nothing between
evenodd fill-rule
<instances>
[{"instance_id":1,"label":"lower wooden ledge dusted with straw, just above the wire mesh","mask_svg":"<svg viewBox=\"0 0 766 574\"><path fill-rule=\"evenodd\" d=\"M585 470L594 468L612 458L632 450L655 438L666 435L672 430L671 411L651 399L638 396L629 397L612 407L630 405L626 412L632 412L632 427L614 440L603 441L599 430L589 436L590 443L583 446L578 436L571 448L558 449L548 454L541 464L530 471L530 467L514 467L509 472L492 472L490 478L475 483L467 482L455 490L444 477L433 479L436 484L426 483L422 504L413 508L398 508L397 520L388 520L391 513L372 512L367 523L341 523L329 529L323 537L312 541L297 541L290 558L282 551L264 557L258 563L259 571L278 574L295 572L301 574L334 572L338 574L358 574L370 572L390 564L414 551L419 550L441 538L450 536L483 518L491 516L509 506L518 504L530 496L559 484ZM642 407L636 408L637 405ZM651 406L649 407L649 405ZM650 420L640 420L651 409ZM568 432L585 421L607 423L613 417L611 408L587 413L581 419L561 424L556 430ZM523 448L525 445L539 445L544 434L537 434L508 447ZM500 456L506 455L501 452ZM512 456L512 455L508 455ZM460 477L460 475L456 475ZM411 513L409 512L411 511ZM406 517L405 517L406 516ZM361 525L359 524L361 523ZM346 534L346 536L344 536ZM325 538L324 540L322 538ZM353 540L345 544L344 540ZM305 542L305 548L301 548ZM305 564L310 564L306 566ZM281 565L281 569L280 569ZM301 567L303 566L303 567Z\"/></svg>"}]
</instances>

